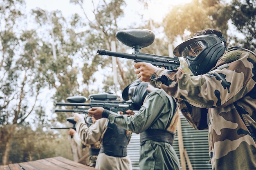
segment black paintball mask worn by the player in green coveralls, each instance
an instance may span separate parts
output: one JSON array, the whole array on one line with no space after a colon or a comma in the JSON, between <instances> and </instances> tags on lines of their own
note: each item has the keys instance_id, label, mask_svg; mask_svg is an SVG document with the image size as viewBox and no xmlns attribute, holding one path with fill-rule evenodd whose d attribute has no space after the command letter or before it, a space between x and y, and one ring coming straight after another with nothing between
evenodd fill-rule
<instances>
[{"instance_id":1,"label":"black paintball mask worn by the player in green coveralls","mask_svg":"<svg viewBox=\"0 0 256 170\"><path fill-rule=\"evenodd\" d=\"M139 110L149 93L147 91L149 83L136 80L126 86L123 90L122 96L124 100L132 100L134 110Z\"/></svg>"}]
</instances>

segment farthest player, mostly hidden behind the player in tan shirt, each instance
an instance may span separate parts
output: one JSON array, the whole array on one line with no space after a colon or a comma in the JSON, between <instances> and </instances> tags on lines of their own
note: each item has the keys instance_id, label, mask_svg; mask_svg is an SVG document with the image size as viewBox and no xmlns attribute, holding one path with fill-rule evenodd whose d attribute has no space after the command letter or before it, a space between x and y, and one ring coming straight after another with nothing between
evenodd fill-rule
<instances>
[{"instance_id":1,"label":"farthest player, mostly hidden behind the player in tan shirt","mask_svg":"<svg viewBox=\"0 0 256 170\"><path fill-rule=\"evenodd\" d=\"M92 124L95 123L96 119L92 116L88 116L87 118L87 121L86 122L90 122ZM91 124L87 124L88 127L90 127ZM91 144L91 145L83 145L82 144L82 141L80 139L80 137L78 136L76 130L70 128L69 129L69 135L70 136L73 136L73 139L76 141L76 143L81 147L86 147L88 146L89 147L89 155L88 155L88 161L86 163L87 166L90 166L90 167L94 167L95 168L95 165L96 165L96 161L97 161L97 157L99 155L99 150L101 148L101 144L100 142L96 142L95 144Z\"/></svg>"}]
</instances>

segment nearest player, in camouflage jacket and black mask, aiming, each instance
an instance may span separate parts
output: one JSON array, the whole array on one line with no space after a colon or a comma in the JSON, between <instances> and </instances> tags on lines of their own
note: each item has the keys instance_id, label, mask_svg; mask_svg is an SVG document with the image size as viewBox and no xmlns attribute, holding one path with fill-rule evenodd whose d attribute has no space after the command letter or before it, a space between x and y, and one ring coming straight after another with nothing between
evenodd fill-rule
<instances>
[{"instance_id":1,"label":"nearest player, in camouflage jacket and black mask, aiming","mask_svg":"<svg viewBox=\"0 0 256 170\"><path fill-rule=\"evenodd\" d=\"M192 74L135 63L141 81L164 89L177 100L195 129L209 129L213 170L256 169L256 54L227 49L222 32L198 31L178 45Z\"/></svg>"}]
</instances>

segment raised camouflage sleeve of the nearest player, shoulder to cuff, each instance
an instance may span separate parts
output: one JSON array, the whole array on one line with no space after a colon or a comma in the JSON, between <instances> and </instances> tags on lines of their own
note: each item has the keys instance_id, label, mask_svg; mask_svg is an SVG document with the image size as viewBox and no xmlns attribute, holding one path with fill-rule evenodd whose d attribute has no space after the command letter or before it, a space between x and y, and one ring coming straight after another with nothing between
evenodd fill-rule
<instances>
[{"instance_id":1,"label":"raised camouflage sleeve of the nearest player, shoulder to cuff","mask_svg":"<svg viewBox=\"0 0 256 170\"><path fill-rule=\"evenodd\" d=\"M245 96L255 85L256 57L245 50L227 52L209 73L193 76L180 69L157 69L151 84L195 107L225 107Z\"/></svg>"}]
</instances>

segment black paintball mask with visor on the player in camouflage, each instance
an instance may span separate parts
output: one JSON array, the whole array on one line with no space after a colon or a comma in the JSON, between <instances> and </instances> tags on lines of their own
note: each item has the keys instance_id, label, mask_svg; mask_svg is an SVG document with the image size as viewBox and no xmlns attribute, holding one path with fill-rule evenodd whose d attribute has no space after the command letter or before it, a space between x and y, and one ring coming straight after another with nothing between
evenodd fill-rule
<instances>
[{"instance_id":1,"label":"black paintball mask with visor on the player in camouflage","mask_svg":"<svg viewBox=\"0 0 256 170\"><path fill-rule=\"evenodd\" d=\"M178 45L173 50L173 54L184 57L195 76L206 74L227 50L225 41L224 37L218 37L216 34L200 35Z\"/></svg>"}]
</instances>

